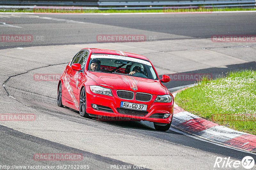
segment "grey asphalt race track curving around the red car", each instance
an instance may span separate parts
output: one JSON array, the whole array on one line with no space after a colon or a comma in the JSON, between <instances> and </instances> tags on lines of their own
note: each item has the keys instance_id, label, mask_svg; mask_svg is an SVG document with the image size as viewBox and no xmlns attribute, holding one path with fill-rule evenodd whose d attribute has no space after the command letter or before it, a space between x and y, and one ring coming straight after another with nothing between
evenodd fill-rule
<instances>
[{"instance_id":1,"label":"grey asphalt race track curving around the red car","mask_svg":"<svg viewBox=\"0 0 256 170\"><path fill-rule=\"evenodd\" d=\"M255 12L147 15L1 13L0 35L31 35L33 40L0 42L0 81L4 85L0 88L0 113L34 114L36 119L0 121L0 165L231 169L214 168L216 158L231 157L231 160L241 161L245 156L251 156L256 160L255 153L210 143L174 127L161 132L149 122L101 122L80 117L77 111L57 106L58 81L36 78L38 74L60 75L76 52L85 47L145 55L159 75L210 74L216 78L230 70L256 70L255 41L211 40L212 35L256 35L255 16ZM117 34L144 35L146 39L141 42L99 42L97 39L97 35ZM176 80L165 85L174 88L194 82ZM78 153L83 159L38 161L33 158L40 153ZM243 169L243 166L235 169Z\"/></svg>"}]
</instances>

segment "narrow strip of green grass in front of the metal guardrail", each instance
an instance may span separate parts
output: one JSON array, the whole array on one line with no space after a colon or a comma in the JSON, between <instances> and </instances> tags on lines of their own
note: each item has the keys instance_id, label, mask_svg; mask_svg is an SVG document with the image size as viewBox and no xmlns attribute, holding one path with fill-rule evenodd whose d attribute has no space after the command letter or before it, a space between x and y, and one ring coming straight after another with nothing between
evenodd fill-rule
<instances>
[{"instance_id":1,"label":"narrow strip of green grass in front of the metal guardrail","mask_svg":"<svg viewBox=\"0 0 256 170\"><path fill-rule=\"evenodd\" d=\"M254 8L212 8L211 11L255 11L256 9ZM163 9L158 9L158 10L82 10L79 12L71 12L71 13L141 13L141 12L189 12L189 10L183 9L177 11L176 9L173 10L167 10L164 11ZM3 10L0 9L0 12L34 12L33 9L28 10L28 9L13 9L13 10ZM192 11L193 12L193 11ZM42 12L43 13L43 12ZM58 13L58 12L56 12Z\"/></svg>"}]
</instances>

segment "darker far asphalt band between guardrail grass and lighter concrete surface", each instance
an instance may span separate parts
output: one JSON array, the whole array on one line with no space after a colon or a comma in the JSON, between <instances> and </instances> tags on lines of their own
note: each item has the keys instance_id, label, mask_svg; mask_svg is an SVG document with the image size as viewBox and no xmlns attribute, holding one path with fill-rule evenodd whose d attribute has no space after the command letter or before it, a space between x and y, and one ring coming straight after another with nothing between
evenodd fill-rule
<instances>
[{"instance_id":1,"label":"darker far asphalt band between guardrail grass and lighter concrete surface","mask_svg":"<svg viewBox=\"0 0 256 170\"><path fill-rule=\"evenodd\" d=\"M33 42L3 43L0 48L98 42L98 34L143 34L147 40L255 35L255 12L157 15L0 14L1 34L32 34ZM66 24L72 23L72 24ZM36 36L44 39L36 40Z\"/></svg>"}]
</instances>

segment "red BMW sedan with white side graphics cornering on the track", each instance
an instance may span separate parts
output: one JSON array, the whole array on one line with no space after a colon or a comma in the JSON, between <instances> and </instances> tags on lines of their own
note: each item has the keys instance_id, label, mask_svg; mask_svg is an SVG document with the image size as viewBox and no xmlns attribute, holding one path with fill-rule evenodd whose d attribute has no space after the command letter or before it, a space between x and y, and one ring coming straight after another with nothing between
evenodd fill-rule
<instances>
[{"instance_id":1,"label":"red BMW sedan with white side graphics cornering on the track","mask_svg":"<svg viewBox=\"0 0 256 170\"><path fill-rule=\"evenodd\" d=\"M122 117L154 122L169 130L173 96L145 56L117 50L84 48L65 67L58 84L58 106L82 117Z\"/></svg>"}]
</instances>

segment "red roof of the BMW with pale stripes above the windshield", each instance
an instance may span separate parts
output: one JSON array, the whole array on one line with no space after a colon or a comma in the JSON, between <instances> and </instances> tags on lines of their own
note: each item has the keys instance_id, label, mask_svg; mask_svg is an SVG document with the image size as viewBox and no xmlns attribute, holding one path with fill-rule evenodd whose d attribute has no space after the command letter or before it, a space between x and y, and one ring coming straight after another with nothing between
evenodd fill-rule
<instances>
[{"instance_id":1,"label":"red roof of the BMW with pale stripes above the windshield","mask_svg":"<svg viewBox=\"0 0 256 170\"><path fill-rule=\"evenodd\" d=\"M142 60L148 60L148 58L143 56L143 55L135 54L135 53L129 53L129 52L124 52L124 51L119 51L119 50L109 50L109 49L101 49L101 48L84 48L84 49L92 51L92 53L96 53L96 54L122 55L122 56L142 59Z\"/></svg>"}]
</instances>

